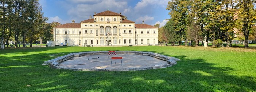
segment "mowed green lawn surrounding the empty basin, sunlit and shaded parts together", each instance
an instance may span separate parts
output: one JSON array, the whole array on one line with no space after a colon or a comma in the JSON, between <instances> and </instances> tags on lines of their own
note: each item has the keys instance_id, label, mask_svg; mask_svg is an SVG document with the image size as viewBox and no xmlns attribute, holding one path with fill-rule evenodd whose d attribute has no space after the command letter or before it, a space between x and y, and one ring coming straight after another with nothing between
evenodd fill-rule
<instances>
[{"instance_id":1,"label":"mowed green lawn surrounding the empty basin, sunlit and shaded parts together","mask_svg":"<svg viewBox=\"0 0 256 92\"><path fill-rule=\"evenodd\" d=\"M149 51L181 59L144 71L71 71L44 61L85 51ZM57 54L56 56L50 56ZM255 92L256 49L185 46L18 47L0 50L1 92Z\"/></svg>"}]
</instances>

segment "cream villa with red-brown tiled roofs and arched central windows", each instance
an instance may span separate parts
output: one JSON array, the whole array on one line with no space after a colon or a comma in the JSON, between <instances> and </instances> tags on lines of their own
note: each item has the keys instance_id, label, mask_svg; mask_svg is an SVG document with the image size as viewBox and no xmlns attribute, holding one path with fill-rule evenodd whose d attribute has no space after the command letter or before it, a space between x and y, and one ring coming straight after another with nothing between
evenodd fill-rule
<instances>
[{"instance_id":1,"label":"cream villa with red-brown tiled roofs and arched central windows","mask_svg":"<svg viewBox=\"0 0 256 92\"><path fill-rule=\"evenodd\" d=\"M109 46L109 45L156 45L158 28L135 24L121 13L94 12L93 18L80 23L67 23L53 28L56 45Z\"/></svg>"}]
</instances>

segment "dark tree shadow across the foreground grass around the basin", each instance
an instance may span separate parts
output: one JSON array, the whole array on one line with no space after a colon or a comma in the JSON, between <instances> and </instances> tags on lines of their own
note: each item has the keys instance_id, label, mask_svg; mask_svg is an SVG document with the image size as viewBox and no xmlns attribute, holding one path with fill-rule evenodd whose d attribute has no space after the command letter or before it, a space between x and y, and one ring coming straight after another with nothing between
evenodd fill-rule
<instances>
[{"instance_id":1,"label":"dark tree shadow across the foreground grass around the basin","mask_svg":"<svg viewBox=\"0 0 256 92\"><path fill-rule=\"evenodd\" d=\"M83 51L82 51L83 52ZM154 52L154 51L150 51ZM155 53L155 52L154 52ZM158 52L156 52L158 53ZM42 66L53 53L0 57L1 91L256 91L255 77L236 76L231 67L181 55L178 64L145 71L71 71ZM57 53L62 55L62 53ZM68 53L66 53L68 54ZM65 54L65 55L66 55ZM167 53L159 53L173 56ZM31 86L27 86L31 85Z\"/></svg>"}]
</instances>

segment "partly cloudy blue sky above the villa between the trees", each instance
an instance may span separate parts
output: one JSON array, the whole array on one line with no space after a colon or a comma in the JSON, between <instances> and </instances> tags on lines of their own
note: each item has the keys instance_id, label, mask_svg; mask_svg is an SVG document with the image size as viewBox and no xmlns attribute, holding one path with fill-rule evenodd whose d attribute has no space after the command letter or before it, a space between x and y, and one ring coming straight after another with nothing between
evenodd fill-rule
<instances>
[{"instance_id":1,"label":"partly cloudy blue sky above the villa between the trees","mask_svg":"<svg viewBox=\"0 0 256 92\"><path fill-rule=\"evenodd\" d=\"M164 26L166 19L170 18L166 6L170 0L40 0L44 17L48 17L48 23L59 22L61 24L75 23L89 19L94 12L110 11L122 13L128 20L136 24L142 23L154 25L159 23Z\"/></svg>"}]
</instances>

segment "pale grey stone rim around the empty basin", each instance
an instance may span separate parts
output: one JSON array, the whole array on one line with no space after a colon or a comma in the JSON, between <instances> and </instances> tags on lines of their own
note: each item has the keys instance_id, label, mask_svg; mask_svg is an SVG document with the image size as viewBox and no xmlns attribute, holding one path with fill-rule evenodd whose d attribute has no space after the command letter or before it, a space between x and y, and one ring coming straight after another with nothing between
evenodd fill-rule
<instances>
[{"instance_id":1,"label":"pale grey stone rim around the empty basin","mask_svg":"<svg viewBox=\"0 0 256 92\"><path fill-rule=\"evenodd\" d=\"M159 68L166 68L171 67L172 65L177 64L176 61L180 61L180 59L175 57L169 57L165 55L161 55L158 53L153 52L143 52L143 51L116 51L117 54L137 54L137 55L148 55L151 57L155 57L161 60L166 61L168 64L166 65L159 65L159 66L149 66L149 67L141 67L141 68L115 68L115 69L96 69L96 68L68 68L68 67L60 67L58 66L59 63L69 60L72 57L80 57L85 55L97 55L97 54L108 54L108 51L89 51L89 52L79 52L79 53L70 53L64 56L57 57L55 59L51 59L45 61L43 64L50 64L51 68L55 69L68 69L74 71L136 71L136 70L148 70L148 69L159 69Z\"/></svg>"}]
</instances>

